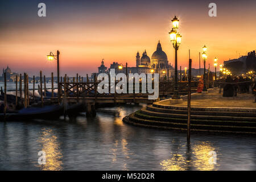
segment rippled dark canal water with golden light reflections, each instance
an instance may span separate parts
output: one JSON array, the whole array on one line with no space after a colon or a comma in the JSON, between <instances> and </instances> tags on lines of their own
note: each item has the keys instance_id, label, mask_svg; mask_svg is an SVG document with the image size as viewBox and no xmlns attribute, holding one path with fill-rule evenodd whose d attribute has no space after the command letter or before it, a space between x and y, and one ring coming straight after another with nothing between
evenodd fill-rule
<instances>
[{"instance_id":1,"label":"rippled dark canal water with golden light reflections","mask_svg":"<svg viewBox=\"0 0 256 182\"><path fill-rule=\"evenodd\" d=\"M256 169L255 137L192 134L187 144L185 133L122 122L144 106L105 107L95 118L72 122L0 122L0 170ZM44 165L39 151L46 153Z\"/></svg>"}]
</instances>

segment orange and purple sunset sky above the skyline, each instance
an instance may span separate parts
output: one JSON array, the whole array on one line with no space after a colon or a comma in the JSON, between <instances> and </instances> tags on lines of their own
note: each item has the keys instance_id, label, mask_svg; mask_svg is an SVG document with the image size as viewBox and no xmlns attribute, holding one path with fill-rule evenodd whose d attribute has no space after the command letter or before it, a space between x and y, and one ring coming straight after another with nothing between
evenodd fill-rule
<instances>
[{"instance_id":1,"label":"orange and purple sunset sky above the skyline","mask_svg":"<svg viewBox=\"0 0 256 182\"><path fill-rule=\"evenodd\" d=\"M38 3L46 3L46 17L38 16ZM217 17L208 5L217 4ZM137 51L150 56L158 40L174 64L169 39L171 19L180 19L182 35L178 66L199 67L199 51L208 47L208 64L234 59L256 45L256 1L1 1L0 68L47 77L56 75L56 61L46 55L60 51L60 73L73 76L97 72L101 60L135 66ZM203 67L203 64L201 64Z\"/></svg>"}]
</instances>

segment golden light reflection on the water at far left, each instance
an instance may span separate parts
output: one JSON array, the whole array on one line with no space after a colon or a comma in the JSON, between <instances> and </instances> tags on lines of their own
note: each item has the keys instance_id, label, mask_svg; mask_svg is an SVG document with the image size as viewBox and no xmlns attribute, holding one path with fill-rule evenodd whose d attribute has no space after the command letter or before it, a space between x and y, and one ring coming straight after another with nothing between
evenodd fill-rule
<instances>
[{"instance_id":1,"label":"golden light reflection on the water at far left","mask_svg":"<svg viewBox=\"0 0 256 182\"><path fill-rule=\"evenodd\" d=\"M42 144L42 149L40 150L46 152L46 164L40 165L39 167L47 171L59 171L63 169L61 167L63 156L59 148L59 142L53 131L51 129L42 129L42 134L38 142Z\"/></svg>"}]
</instances>

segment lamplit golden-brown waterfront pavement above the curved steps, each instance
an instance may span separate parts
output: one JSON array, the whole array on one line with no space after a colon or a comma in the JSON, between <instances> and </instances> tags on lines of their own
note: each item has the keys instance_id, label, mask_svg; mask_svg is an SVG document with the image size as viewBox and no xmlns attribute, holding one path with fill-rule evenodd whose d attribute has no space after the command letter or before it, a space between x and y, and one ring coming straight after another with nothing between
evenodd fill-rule
<instances>
[{"instance_id":1,"label":"lamplit golden-brown waterfront pavement above the curved steps","mask_svg":"<svg viewBox=\"0 0 256 182\"><path fill-rule=\"evenodd\" d=\"M256 108L254 94L242 93L236 97L223 97L218 89L211 89L207 94L195 93L191 96L192 107L240 107ZM170 104L170 100L160 101L161 105L187 106L187 96L183 97L183 102Z\"/></svg>"}]
</instances>

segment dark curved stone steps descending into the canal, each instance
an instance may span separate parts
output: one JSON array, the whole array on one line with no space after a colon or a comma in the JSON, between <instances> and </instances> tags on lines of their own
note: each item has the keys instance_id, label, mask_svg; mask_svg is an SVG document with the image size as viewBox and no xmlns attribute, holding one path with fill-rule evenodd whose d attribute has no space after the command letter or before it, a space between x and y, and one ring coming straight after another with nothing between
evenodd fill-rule
<instances>
[{"instance_id":1,"label":"dark curved stone steps descending into the canal","mask_svg":"<svg viewBox=\"0 0 256 182\"><path fill-rule=\"evenodd\" d=\"M197 110L198 109L198 110ZM192 107L191 131L256 134L256 112L249 108ZM187 107L148 105L123 119L160 129L187 130Z\"/></svg>"}]
</instances>

